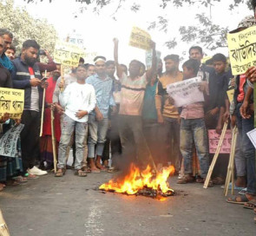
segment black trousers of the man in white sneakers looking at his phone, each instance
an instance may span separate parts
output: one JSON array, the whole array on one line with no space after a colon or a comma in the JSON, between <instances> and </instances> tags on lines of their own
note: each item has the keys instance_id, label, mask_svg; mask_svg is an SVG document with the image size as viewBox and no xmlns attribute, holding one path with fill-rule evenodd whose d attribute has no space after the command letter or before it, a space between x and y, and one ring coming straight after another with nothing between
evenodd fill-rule
<instances>
[{"instance_id":1,"label":"black trousers of the man in white sneakers looking at his phone","mask_svg":"<svg viewBox=\"0 0 256 236\"><path fill-rule=\"evenodd\" d=\"M23 171L35 166L36 156L39 149L40 113L24 110L22 115L24 124L21 133Z\"/></svg>"}]
</instances>

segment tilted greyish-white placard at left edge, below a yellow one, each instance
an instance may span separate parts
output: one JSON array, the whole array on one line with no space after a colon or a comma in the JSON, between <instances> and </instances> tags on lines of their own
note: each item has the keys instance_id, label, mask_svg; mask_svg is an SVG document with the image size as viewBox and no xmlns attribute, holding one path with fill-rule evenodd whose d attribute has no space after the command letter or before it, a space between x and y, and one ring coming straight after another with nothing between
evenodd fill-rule
<instances>
[{"instance_id":1,"label":"tilted greyish-white placard at left edge, below a yellow one","mask_svg":"<svg viewBox=\"0 0 256 236\"><path fill-rule=\"evenodd\" d=\"M19 124L16 127L10 128L0 139L0 155L16 156L16 142L19 134L22 132L24 125Z\"/></svg>"}]
</instances>

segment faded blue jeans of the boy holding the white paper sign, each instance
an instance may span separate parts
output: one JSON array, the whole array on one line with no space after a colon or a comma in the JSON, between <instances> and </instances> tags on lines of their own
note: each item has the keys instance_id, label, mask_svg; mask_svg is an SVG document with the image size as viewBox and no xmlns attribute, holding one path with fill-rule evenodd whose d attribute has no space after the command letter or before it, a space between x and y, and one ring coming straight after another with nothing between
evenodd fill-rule
<instances>
[{"instance_id":1,"label":"faded blue jeans of the boy holding the white paper sign","mask_svg":"<svg viewBox=\"0 0 256 236\"><path fill-rule=\"evenodd\" d=\"M207 177L209 168L209 152L207 144L207 128L204 119L181 118L181 154L184 159L185 174L192 174L193 144L200 161L200 176Z\"/></svg>"}]
</instances>

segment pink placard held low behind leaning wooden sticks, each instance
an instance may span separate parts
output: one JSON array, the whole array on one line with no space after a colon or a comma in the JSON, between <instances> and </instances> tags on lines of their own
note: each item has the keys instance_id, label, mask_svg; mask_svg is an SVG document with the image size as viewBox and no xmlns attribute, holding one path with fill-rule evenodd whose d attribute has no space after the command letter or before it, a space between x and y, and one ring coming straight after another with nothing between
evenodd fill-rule
<instances>
[{"instance_id":1,"label":"pink placard held low behind leaning wooden sticks","mask_svg":"<svg viewBox=\"0 0 256 236\"><path fill-rule=\"evenodd\" d=\"M208 137L209 137L209 153L215 154L220 141L220 134L217 134L215 129L209 129ZM232 132L230 129L228 129L226 130L226 134L222 142L222 146L220 148L220 154L230 154L231 142L232 142Z\"/></svg>"}]
</instances>

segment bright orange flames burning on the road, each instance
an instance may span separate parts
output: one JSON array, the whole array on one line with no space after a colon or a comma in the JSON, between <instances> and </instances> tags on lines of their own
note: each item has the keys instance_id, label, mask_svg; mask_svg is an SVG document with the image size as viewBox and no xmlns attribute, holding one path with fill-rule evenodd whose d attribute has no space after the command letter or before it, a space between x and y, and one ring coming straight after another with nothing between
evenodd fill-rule
<instances>
[{"instance_id":1,"label":"bright orange flames burning on the road","mask_svg":"<svg viewBox=\"0 0 256 236\"><path fill-rule=\"evenodd\" d=\"M163 168L161 172L154 176L151 167L148 166L141 172L138 167L135 167L135 164L131 164L126 176L109 180L108 183L102 184L99 188L116 193L127 193L129 195L139 193L143 189L150 189L154 190L156 194L160 193L164 196L165 194L174 193L174 190L169 188L167 183L170 174L174 174L173 166Z\"/></svg>"}]
</instances>

